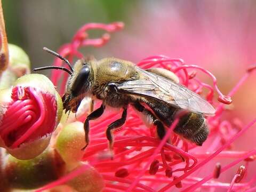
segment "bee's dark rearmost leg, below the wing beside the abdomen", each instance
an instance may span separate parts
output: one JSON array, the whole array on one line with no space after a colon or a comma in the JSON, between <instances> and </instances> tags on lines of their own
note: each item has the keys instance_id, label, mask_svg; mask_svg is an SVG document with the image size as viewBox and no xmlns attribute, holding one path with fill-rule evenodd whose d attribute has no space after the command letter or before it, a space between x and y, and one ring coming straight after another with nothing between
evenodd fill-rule
<instances>
[{"instance_id":1,"label":"bee's dark rearmost leg, below the wing beside the abdomen","mask_svg":"<svg viewBox=\"0 0 256 192\"><path fill-rule=\"evenodd\" d=\"M133 106L136 110L146 116L149 116L152 119L154 125L156 126L157 136L159 137L159 139L163 139L166 133L163 123L159 121L159 119L150 110L146 109L139 102L135 102Z\"/></svg>"}]
</instances>

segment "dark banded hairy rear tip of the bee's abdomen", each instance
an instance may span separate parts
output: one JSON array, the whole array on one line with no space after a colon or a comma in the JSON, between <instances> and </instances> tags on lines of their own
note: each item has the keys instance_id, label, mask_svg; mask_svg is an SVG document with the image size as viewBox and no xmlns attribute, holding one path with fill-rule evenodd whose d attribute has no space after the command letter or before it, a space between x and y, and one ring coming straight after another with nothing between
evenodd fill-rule
<instances>
[{"instance_id":1,"label":"dark banded hairy rear tip of the bee's abdomen","mask_svg":"<svg viewBox=\"0 0 256 192\"><path fill-rule=\"evenodd\" d=\"M208 125L202 114L189 113L180 119L174 132L202 146L209 135Z\"/></svg>"}]
</instances>

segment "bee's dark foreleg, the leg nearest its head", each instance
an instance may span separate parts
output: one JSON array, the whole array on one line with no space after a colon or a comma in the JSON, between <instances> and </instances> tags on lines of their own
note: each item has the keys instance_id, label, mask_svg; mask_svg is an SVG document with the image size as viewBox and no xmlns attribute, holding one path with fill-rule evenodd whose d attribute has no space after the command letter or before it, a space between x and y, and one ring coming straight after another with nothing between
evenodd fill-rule
<instances>
[{"instance_id":1,"label":"bee's dark foreleg, the leg nearest its head","mask_svg":"<svg viewBox=\"0 0 256 192\"><path fill-rule=\"evenodd\" d=\"M104 109L105 109L105 105L103 105L103 103L102 103L100 108L94 110L90 115L87 116L87 118L84 122L84 132L85 132L85 143L86 143L86 145L82 148L82 150L84 150L89 144L89 121L100 117L103 114Z\"/></svg>"}]
</instances>

